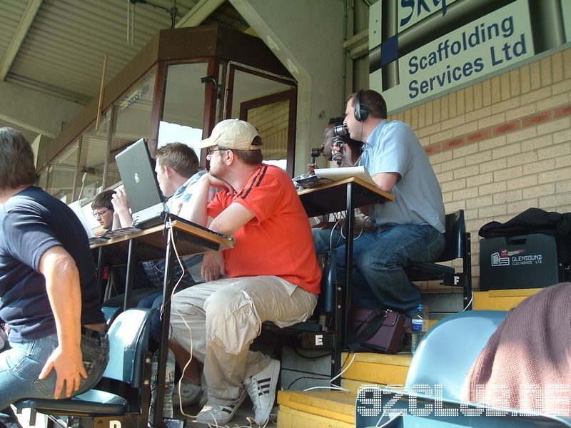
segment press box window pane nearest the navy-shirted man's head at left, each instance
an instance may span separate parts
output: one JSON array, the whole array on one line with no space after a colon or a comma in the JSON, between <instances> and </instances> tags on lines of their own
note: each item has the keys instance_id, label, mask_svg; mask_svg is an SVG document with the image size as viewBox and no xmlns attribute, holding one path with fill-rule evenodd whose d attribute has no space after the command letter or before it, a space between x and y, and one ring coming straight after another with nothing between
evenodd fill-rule
<instances>
[{"instance_id":1,"label":"press box window pane nearest the navy-shirted man's head at left","mask_svg":"<svg viewBox=\"0 0 571 428\"><path fill-rule=\"evenodd\" d=\"M48 167L44 188L64 203L72 202L79 142L67 146Z\"/></svg>"}]
</instances>

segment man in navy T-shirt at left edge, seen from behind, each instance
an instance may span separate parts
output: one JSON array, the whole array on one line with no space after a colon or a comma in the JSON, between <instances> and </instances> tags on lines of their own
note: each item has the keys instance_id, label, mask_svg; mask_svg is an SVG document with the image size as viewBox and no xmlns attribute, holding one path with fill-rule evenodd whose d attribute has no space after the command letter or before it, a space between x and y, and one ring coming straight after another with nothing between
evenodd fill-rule
<instances>
[{"instance_id":1,"label":"man in navy T-shirt at left edge, seen from behind","mask_svg":"<svg viewBox=\"0 0 571 428\"><path fill-rule=\"evenodd\" d=\"M30 144L0 128L0 318L11 327L11 349L0 354L0 409L91 389L108 361L87 234L35 182Z\"/></svg>"}]
</instances>

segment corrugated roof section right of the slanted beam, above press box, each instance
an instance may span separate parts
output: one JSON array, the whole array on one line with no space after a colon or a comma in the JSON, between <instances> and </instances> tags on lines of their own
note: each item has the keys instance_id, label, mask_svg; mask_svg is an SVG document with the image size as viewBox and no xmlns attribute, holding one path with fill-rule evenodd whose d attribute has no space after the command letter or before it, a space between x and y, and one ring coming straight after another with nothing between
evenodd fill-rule
<instances>
[{"instance_id":1,"label":"corrugated roof section right of the slanted beam, above press box","mask_svg":"<svg viewBox=\"0 0 571 428\"><path fill-rule=\"evenodd\" d=\"M192 6L194 1L186 3ZM105 55L108 55L108 80L158 30L171 27L171 17L166 11L136 4L133 44L128 44L127 5L127 1L45 0L7 80L37 85L74 101L89 102L98 94Z\"/></svg>"}]
</instances>

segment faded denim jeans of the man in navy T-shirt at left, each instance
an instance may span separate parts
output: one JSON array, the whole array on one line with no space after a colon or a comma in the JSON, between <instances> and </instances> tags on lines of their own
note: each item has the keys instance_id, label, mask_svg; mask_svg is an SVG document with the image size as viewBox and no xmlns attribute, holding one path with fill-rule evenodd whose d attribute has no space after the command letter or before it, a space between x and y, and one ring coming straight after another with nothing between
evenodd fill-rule
<instances>
[{"instance_id":1,"label":"faded denim jeans of the man in navy T-shirt at left","mask_svg":"<svg viewBox=\"0 0 571 428\"><path fill-rule=\"evenodd\" d=\"M0 409L21 398L53 399L56 371L52 369L45 379L38 377L58 345L57 335L10 345L10 350L0 353ZM82 335L81 353L87 378L81 377L79 390L74 395L93 388L101 379L109 359L107 335L102 333L96 338Z\"/></svg>"}]
</instances>

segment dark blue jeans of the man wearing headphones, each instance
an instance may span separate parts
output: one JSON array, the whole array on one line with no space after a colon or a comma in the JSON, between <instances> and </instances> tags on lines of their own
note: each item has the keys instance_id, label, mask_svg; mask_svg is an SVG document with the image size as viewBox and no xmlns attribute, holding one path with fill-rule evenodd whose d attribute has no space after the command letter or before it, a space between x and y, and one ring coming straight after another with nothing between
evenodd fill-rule
<instances>
[{"instance_id":1,"label":"dark blue jeans of the man wearing headphones","mask_svg":"<svg viewBox=\"0 0 571 428\"><path fill-rule=\"evenodd\" d=\"M337 250L338 280L345 277L345 239L338 230L313 229L317 253ZM444 250L443 233L430 225L387 225L369 230L353 240L351 302L379 306L412 317L421 302L419 288L404 270L410 261L432 262Z\"/></svg>"}]
</instances>

